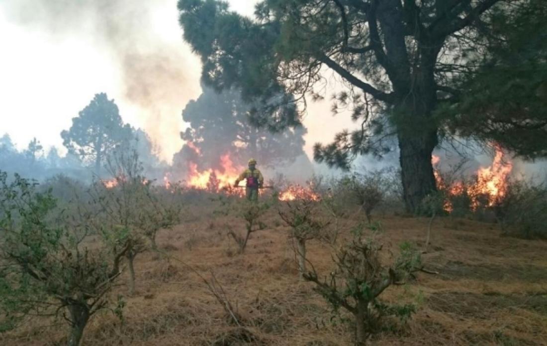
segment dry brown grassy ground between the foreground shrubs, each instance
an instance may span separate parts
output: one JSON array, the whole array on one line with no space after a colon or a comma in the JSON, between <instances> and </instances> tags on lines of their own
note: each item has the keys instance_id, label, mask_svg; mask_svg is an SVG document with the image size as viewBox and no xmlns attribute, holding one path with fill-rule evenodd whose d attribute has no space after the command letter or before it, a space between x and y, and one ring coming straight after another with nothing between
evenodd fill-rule
<instances>
[{"instance_id":1,"label":"dry brown grassy ground between the foreground shrubs","mask_svg":"<svg viewBox=\"0 0 547 346\"><path fill-rule=\"evenodd\" d=\"M124 323L107 312L96 315L83 345L352 344L348 326L331 321L313 285L298 278L287 228L273 210L265 217L269 228L253 233L246 253L236 255L226 224L242 228L242 222L214 216L213 208L192 207L183 224L159 234L159 246L172 259L154 253L137 258L137 292L126 297ZM376 218L393 252L402 241L423 245L427 219ZM310 242L309 258L319 272L331 269L330 251ZM245 327L228 323L222 306L179 260L206 278L214 272ZM371 344L547 344L547 242L503 237L494 224L438 219L423 260L439 274L420 273L385 293L387 300L415 302L418 312ZM0 336L0 344L55 345L65 328L40 321Z\"/></svg>"}]
</instances>

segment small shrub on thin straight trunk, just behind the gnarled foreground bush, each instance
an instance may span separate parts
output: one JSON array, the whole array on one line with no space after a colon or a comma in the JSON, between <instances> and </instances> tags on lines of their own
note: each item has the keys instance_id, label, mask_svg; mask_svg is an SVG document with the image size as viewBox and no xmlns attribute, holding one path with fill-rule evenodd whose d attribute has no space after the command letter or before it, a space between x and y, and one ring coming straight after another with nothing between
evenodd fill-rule
<instances>
[{"instance_id":1,"label":"small shrub on thin straight trunk, just behind the gnarled foreground bush","mask_svg":"<svg viewBox=\"0 0 547 346\"><path fill-rule=\"evenodd\" d=\"M296 243L295 254L298 258L298 270L306 273L306 241L323 237L322 230L329 224L319 218L317 202L298 200L286 202L284 210L278 210L283 221L290 226L289 237Z\"/></svg>"}]
</instances>

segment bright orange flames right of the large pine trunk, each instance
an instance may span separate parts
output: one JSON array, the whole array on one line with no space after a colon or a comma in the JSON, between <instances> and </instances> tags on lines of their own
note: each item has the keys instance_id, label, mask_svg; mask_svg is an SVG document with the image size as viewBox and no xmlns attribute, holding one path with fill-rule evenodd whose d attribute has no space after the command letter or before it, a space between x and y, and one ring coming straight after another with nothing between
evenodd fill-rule
<instances>
[{"instance_id":1,"label":"bright orange flames right of the large pine trunk","mask_svg":"<svg viewBox=\"0 0 547 346\"><path fill-rule=\"evenodd\" d=\"M443 178L439 174L438 163L440 158L432 156L435 181L437 187L444 189L450 196L458 196L467 193L470 199L472 210L476 210L481 205L493 206L503 200L507 193L507 179L513 170L513 163L505 162L504 152L501 147L496 146L496 154L489 167L481 167L476 172L475 181L466 186L462 181L453 182L446 186ZM452 204L449 200L445 201L444 210L451 212Z\"/></svg>"}]
</instances>

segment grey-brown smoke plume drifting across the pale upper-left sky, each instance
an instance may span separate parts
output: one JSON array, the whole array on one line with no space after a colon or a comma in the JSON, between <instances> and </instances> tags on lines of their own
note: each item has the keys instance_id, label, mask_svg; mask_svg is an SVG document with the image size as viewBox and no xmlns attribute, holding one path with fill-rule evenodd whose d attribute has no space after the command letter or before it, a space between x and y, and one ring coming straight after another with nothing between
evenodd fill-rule
<instances>
[{"instance_id":1,"label":"grey-brown smoke plume drifting across the pale upper-left sky","mask_svg":"<svg viewBox=\"0 0 547 346\"><path fill-rule=\"evenodd\" d=\"M139 122L171 160L183 144L180 112L200 92L200 63L182 40L176 2L12 0L0 6L16 25L53 41L83 41L108 56L119 73L110 97L124 120Z\"/></svg>"}]
</instances>

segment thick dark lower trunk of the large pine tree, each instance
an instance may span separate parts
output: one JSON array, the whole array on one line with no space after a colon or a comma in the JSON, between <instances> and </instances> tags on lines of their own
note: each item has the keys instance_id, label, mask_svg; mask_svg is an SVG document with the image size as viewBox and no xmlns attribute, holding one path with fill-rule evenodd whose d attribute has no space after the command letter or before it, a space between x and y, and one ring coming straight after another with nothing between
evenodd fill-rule
<instances>
[{"instance_id":1,"label":"thick dark lower trunk of the large pine tree","mask_svg":"<svg viewBox=\"0 0 547 346\"><path fill-rule=\"evenodd\" d=\"M399 132L399 162L406 210L418 212L422 200L437 189L431 154L437 145L436 130L417 130L414 135Z\"/></svg>"}]
</instances>

